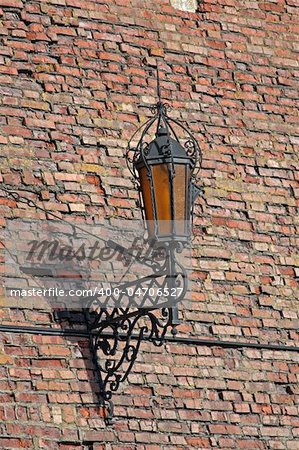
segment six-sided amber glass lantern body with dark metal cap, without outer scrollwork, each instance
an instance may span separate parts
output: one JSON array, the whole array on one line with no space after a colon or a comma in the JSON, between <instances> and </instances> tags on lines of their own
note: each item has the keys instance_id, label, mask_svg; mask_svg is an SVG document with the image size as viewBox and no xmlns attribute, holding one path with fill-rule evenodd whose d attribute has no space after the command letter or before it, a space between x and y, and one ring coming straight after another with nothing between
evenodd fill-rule
<instances>
[{"instance_id":1,"label":"six-sided amber glass lantern body with dark metal cap, without outer scrollwork","mask_svg":"<svg viewBox=\"0 0 299 450\"><path fill-rule=\"evenodd\" d=\"M136 163L149 238L186 241L190 234L192 160L159 128Z\"/></svg>"}]
</instances>

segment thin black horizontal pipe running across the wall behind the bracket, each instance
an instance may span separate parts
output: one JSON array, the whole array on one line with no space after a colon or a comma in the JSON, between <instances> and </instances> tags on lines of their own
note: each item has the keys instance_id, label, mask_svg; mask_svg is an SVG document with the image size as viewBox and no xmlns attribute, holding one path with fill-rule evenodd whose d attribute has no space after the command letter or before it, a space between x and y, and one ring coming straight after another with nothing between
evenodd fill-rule
<instances>
[{"instance_id":1,"label":"thin black horizontal pipe running across the wall behind the bracket","mask_svg":"<svg viewBox=\"0 0 299 450\"><path fill-rule=\"evenodd\" d=\"M27 334L42 334L50 336L65 336L65 337L78 337L78 338L89 338L90 334L88 331L83 330L73 330L67 328L65 330L61 328L50 328L50 327L29 327L29 326L18 326L18 325L0 325L0 332L7 333L27 333ZM96 334L96 333L94 333ZM103 333L105 337L112 337L111 333ZM131 336L131 338L137 338L137 336ZM167 343L184 344L184 345L195 345L195 346L205 346L205 347L223 347L223 348L254 348L258 350L278 350L278 351L291 351L299 352L299 347L291 345L279 345L279 344L259 344L255 342L237 342L237 341L223 341L218 339L199 339L196 337L171 337L166 336L163 339Z\"/></svg>"}]
</instances>

